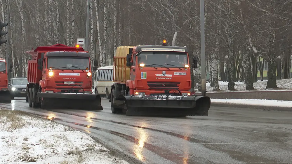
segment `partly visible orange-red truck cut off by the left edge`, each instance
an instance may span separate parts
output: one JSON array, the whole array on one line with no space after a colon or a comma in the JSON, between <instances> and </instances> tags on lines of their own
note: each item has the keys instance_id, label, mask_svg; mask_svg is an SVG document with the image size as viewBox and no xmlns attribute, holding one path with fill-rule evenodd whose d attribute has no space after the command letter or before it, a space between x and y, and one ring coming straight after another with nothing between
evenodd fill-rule
<instances>
[{"instance_id":1,"label":"partly visible orange-red truck cut off by the left edge","mask_svg":"<svg viewBox=\"0 0 292 164\"><path fill-rule=\"evenodd\" d=\"M10 66L10 70L12 65ZM5 57L0 57L0 102L10 103L11 96L8 89L8 71Z\"/></svg>"}]
</instances>

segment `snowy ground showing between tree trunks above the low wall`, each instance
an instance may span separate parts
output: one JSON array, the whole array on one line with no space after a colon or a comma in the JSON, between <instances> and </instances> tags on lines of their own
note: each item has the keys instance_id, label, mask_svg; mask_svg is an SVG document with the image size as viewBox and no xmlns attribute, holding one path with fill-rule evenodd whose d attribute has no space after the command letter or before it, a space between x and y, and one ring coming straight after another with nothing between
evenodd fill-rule
<instances>
[{"instance_id":1,"label":"snowy ground showing between tree trunks above the low wall","mask_svg":"<svg viewBox=\"0 0 292 164\"><path fill-rule=\"evenodd\" d=\"M263 81L258 81L253 83L253 87L256 90L267 90L265 89L267 86L267 80ZM277 80L277 87L279 89L285 89L285 90L290 90L292 89L292 79L283 79L283 80ZM221 92L227 92L229 91L228 89L228 82L219 82L219 89ZM246 91L246 84L243 82L235 82L235 87L237 91ZM214 92L213 87L210 87L210 83L206 83L206 90L208 92Z\"/></svg>"}]
</instances>

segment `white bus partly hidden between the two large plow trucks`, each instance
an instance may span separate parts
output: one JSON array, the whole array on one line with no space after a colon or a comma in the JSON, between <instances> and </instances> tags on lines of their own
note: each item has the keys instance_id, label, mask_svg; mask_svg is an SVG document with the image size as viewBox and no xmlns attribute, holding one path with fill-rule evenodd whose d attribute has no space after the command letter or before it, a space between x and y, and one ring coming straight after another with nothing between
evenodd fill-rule
<instances>
[{"instance_id":1,"label":"white bus partly hidden between the two large plow trucks","mask_svg":"<svg viewBox=\"0 0 292 164\"><path fill-rule=\"evenodd\" d=\"M110 91L112 88L114 77L114 66L104 66L97 68L94 77L94 93L100 94L100 96L106 96L110 98Z\"/></svg>"}]
</instances>

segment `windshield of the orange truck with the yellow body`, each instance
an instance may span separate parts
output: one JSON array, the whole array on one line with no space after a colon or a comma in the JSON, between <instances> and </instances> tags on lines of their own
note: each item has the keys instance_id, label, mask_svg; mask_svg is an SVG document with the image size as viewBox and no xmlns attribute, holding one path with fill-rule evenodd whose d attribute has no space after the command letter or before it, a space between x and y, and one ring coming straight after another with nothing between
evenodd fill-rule
<instances>
[{"instance_id":1,"label":"windshield of the orange truck with the yellow body","mask_svg":"<svg viewBox=\"0 0 292 164\"><path fill-rule=\"evenodd\" d=\"M167 52L167 51L144 51L138 55L138 65L145 64L151 66L157 64L155 67L179 67L184 68L187 61L187 53L185 52ZM161 65L161 66L159 66Z\"/></svg>"}]
</instances>

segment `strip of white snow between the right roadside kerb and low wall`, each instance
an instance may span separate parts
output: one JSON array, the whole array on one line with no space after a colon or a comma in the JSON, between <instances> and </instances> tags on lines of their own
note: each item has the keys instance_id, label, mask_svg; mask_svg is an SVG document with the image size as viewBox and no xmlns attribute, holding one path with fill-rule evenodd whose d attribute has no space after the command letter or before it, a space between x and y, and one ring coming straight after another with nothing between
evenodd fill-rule
<instances>
[{"instance_id":1,"label":"strip of white snow between the right roadside kerb and low wall","mask_svg":"<svg viewBox=\"0 0 292 164\"><path fill-rule=\"evenodd\" d=\"M259 99L211 99L211 103L230 103L242 105L259 105L272 107L292 107L292 101Z\"/></svg>"}]
</instances>

